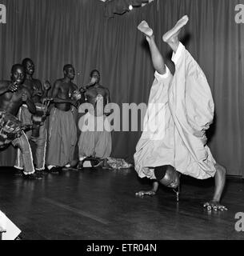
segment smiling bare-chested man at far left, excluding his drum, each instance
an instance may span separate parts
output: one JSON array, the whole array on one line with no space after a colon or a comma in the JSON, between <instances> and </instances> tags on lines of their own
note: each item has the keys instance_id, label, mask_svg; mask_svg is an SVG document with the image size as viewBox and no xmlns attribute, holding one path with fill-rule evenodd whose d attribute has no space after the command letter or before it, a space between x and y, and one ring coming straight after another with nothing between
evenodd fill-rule
<instances>
[{"instance_id":1,"label":"smiling bare-chested man at far left, excluding his drum","mask_svg":"<svg viewBox=\"0 0 244 256\"><path fill-rule=\"evenodd\" d=\"M14 117L18 114L18 110L22 104L26 104L30 113L34 114L36 112L31 95L23 86L24 80L24 67L20 64L15 64L11 69L11 81L0 82L0 109L5 110L6 113L11 114ZM4 127L1 127L1 130L2 128ZM16 130L18 130L18 128L16 128ZM22 151L23 177L38 178L37 175L34 174L33 158L26 134L22 131L21 136L14 138L12 144Z\"/></svg>"}]
</instances>

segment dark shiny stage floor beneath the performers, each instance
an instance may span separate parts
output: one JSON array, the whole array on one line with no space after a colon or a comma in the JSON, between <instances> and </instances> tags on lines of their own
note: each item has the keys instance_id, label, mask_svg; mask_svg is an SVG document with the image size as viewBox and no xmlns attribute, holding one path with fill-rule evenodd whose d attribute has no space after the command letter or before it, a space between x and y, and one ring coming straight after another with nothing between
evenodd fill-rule
<instances>
[{"instance_id":1,"label":"dark shiny stage floor beneath the performers","mask_svg":"<svg viewBox=\"0 0 244 256\"><path fill-rule=\"evenodd\" d=\"M26 181L1 167L0 210L24 240L244 239L234 228L235 214L244 212L243 180L227 179L226 212L202 208L213 194L213 179L182 178L178 203L162 187L154 197L135 196L149 188L133 169L63 171Z\"/></svg>"}]
</instances>

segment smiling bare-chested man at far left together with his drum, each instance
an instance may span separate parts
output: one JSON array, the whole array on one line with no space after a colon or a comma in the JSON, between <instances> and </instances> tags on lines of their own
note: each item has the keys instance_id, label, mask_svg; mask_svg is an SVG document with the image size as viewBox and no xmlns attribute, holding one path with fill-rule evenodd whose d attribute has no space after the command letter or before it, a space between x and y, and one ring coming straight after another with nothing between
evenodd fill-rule
<instances>
[{"instance_id":1,"label":"smiling bare-chested man at far left together with his drum","mask_svg":"<svg viewBox=\"0 0 244 256\"><path fill-rule=\"evenodd\" d=\"M18 147L22 151L23 177L40 178L34 174L35 170L30 144L26 134L22 131L22 123L17 118L14 118L22 104L26 104L30 113L34 114L36 112L31 95L23 86L25 75L24 67L20 64L15 64L11 69L11 81L0 82L0 134L1 138L6 137L6 143L12 142L13 146ZM6 133L10 133L12 139Z\"/></svg>"}]
</instances>

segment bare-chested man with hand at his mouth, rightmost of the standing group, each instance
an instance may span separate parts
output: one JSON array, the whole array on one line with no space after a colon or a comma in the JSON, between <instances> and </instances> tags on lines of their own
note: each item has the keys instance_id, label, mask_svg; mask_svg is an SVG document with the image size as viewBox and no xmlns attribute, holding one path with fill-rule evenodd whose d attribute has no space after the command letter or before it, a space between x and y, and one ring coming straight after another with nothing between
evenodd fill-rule
<instances>
[{"instance_id":1,"label":"bare-chested man with hand at his mouth, rightmost of the standing group","mask_svg":"<svg viewBox=\"0 0 244 256\"><path fill-rule=\"evenodd\" d=\"M111 154L112 139L109 123L106 116L110 111L106 111L106 106L110 103L110 91L100 84L100 73L98 70L90 72L90 84L82 87L82 103L90 103L93 108L88 111L80 124L82 130L79 141L79 166L82 167L82 161L87 157L97 159L95 166L106 166L106 158ZM94 110L94 113L92 113ZM86 122L90 124L86 127Z\"/></svg>"}]
</instances>

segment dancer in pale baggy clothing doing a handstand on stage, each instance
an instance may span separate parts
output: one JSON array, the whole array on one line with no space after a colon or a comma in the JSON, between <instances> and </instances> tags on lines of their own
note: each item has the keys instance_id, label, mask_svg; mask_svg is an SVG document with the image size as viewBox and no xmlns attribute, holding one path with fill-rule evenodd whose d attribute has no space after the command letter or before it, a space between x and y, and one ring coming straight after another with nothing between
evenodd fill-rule
<instances>
[{"instance_id":1,"label":"dancer in pale baggy clothing doing a handstand on stage","mask_svg":"<svg viewBox=\"0 0 244 256\"><path fill-rule=\"evenodd\" d=\"M214 118L214 101L205 74L178 40L178 34L187 22L188 17L182 17L162 37L174 52L174 76L155 44L153 30L145 21L138 26L138 30L146 35L156 71L150 91L150 107L134 154L138 176L150 178L154 184L150 191L137 194L154 195L159 183L176 189L180 174L198 179L214 177L214 197L204 206L208 210L226 210L220 204L226 169L215 162L206 146L206 130ZM158 108L160 111L155 111ZM150 126L151 123L155 125ZM155 127L158 129L152 129Z\"/></svg>"}]
</instances>

